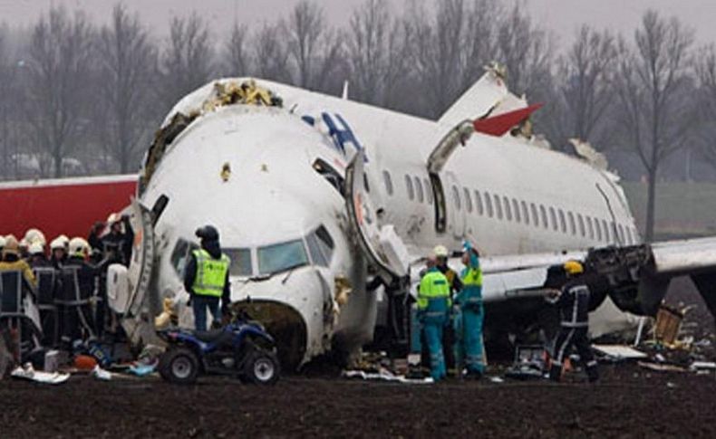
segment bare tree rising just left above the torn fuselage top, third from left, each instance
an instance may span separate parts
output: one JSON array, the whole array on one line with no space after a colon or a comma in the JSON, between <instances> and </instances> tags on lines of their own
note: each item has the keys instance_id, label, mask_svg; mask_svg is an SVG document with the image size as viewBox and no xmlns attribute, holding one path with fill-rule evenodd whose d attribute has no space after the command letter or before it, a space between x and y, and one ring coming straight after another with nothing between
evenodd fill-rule
<instances>
[{"instance_id":1,"label":"bare tree rising just left above the torn fuselage top, third from left","mask_svg":"<svg viewBox=\"0 0 716 439\"><path fill-rule=\"evenodd\" d=\"M169 44L160 61L160 99L169 108L207 83L213 73L214 51L207 23L196 13L173 17Z\"/></svg>"}]
</instances>

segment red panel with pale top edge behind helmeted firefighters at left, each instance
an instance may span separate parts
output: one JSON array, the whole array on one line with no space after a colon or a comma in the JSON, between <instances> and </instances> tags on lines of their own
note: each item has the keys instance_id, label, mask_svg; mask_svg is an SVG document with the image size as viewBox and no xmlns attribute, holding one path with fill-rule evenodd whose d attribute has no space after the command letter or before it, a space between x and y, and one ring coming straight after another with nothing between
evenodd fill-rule
<instances>
[{"instance_id":1,"label":"red panel with pale top edge behind helmeted firefighters at left","mask_svg":"<svg viewBox=\"0 0 716 439\"><path fill-rule=\"evenodd\" d=\"M4 184L0 186L0 234L20 239L34 227L48 241L60 234L86 238L92 224L129 205L136 190L137 182L122 176L86 182L53 180L35 186Z\"/></svg>"}]
</instances>

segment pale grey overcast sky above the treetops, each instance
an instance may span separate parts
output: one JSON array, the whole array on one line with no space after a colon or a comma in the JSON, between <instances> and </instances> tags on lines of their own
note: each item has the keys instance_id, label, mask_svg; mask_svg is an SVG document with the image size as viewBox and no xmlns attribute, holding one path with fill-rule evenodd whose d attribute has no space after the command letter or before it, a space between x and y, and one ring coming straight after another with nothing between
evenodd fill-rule
<instances>
[{"instance_id":1,"label":"pale grey overcast sky above the treetops","mask_svg":"<svg viewBox=\"0 0 716 439\"><path fill-rule=\"evenodd\" d=\"M158 33L166 33L172 14L196 10L211 24L214 32L227 33L235 17L242 23L273 21L285 14L298 0L123 0ZM389 0L394 10L406 5L403 0ZM426 0L440 1L440 0ZM469 1L469 0L468 0ZM511 0L505 0L511 2ZM117 0L0 0L0 21L7 24L29 24L50 5L80 8L93 20L104 22ZM363 0L316 0L323 5L335 24L347 22L352 8ZM544 22L559 37L568 41L576 27L589 23L631 33L643 11L652 7L666 15L676 15L694 28L700 43L716 43L716 0L526 0L536 20Z\"/></svg>"}]
</instances>

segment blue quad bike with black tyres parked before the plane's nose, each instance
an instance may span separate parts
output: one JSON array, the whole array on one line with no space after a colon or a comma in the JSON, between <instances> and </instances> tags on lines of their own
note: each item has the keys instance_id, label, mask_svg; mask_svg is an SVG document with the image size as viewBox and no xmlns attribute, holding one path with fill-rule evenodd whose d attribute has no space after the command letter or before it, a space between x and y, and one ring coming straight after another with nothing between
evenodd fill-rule
<instances>
[{"instance_id":1,"label":"blue quad bike with black tyres parked before the plane's nose","mask_svg":"<svg viewBox=\"0 0 716 439\"><path fill-rule=\"evenodd\" d=\"M232 316L221 329L167 329L158 334L169 344L160 358L160 376L171 383L192 384L199 375L220 374L273 385L280 375L274 339L246 314Z\"/></svg>"}]
</instances>

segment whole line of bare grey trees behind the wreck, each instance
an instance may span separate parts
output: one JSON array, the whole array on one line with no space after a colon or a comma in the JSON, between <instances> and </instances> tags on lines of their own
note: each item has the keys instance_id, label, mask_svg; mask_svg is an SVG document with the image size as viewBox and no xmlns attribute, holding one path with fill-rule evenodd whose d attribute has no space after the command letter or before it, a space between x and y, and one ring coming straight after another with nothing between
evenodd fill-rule
<instances>
[{"instance_id":1,"label":"whole line of bare grey trees behind the wreck","mask_svg":"<svg viewBox=\"0 0 716 439\"><path fill-rule=\"evenodd\" d=\"M365 0L347 24L299 2L273 23L211 32L198 14L152 33L115 5L108 24L51 8L0 39L0 179L133 172L167 111L222 76L256 76L437 118L500 62L518 95L546 106L536 131L634 158L649 185L682 148L716 163L716 52L674 17L644 12L633 33L583 25L561 52L526 6L498 0ZM476 115L477 116L477 115ZM619 169L620 163L613 163ZM30 173L28 176L27 174Z\"/></svg>"}]
</instances>

